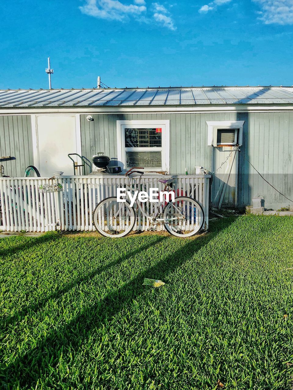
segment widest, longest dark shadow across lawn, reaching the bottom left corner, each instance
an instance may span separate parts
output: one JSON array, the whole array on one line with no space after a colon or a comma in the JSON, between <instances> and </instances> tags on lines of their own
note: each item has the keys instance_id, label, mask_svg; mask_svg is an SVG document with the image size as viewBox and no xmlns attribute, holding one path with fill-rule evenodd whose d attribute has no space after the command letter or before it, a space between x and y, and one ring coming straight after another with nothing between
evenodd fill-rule
<instances>
[{"instance_id":1,"label":"widest, longest dark shadow across lawn, reaching the bottom left corner","mask_svg":"<svg viewBox=\"0 0 293 390\"><path fill-rule=\"evenodd\" d=\"M86 340L97 328L97 324L102 326L104 321L118 314L125 305L130 306L133 300L143 294L145 292L145 287L142 286L143 278L157 278L157 275L160 275L161 279L166 280L171 273L206 246L221 230L227 229L234 220L231 218L222 220L217 225L213 225L213 232L206 236L188 239L179 250L166 254L166 256L163 253L157 264L140 272L135 278L109 293L95 305L81 311L78 316L57 331L49 333L37 347L19 356L2 369L0 373L2 386L14 386L19 383L22 389L33 388L38 379L56 384L60 378L55 378L54 374L57 374L57 370L53 367L58 363L60 356L64 357L70 350L77 351L82 344L86 344ZM102 374L102 371L99 374Z\"/></svg>"}]
</instances>

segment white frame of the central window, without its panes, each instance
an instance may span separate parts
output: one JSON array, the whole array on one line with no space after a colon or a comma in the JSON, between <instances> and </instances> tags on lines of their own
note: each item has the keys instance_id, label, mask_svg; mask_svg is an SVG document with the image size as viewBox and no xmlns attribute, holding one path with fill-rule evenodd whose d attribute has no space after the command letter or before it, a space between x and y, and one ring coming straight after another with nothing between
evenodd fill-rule
<instances>
[{"instance_id":1,"label":"white frame of the central window, without its panes","mask_svg":"<svg viewBox=\"0 0 293 390\"><path fill-rule=\"evenodd\" d=\"M145 168L145 171L170 172L170 121L117 121L117 157L126 167L126 152L161 151L162 167ZM125 129L162 128L162 147L125 147ZM144 168L144 167L142 167Z\"/></svg>"}]
</instances>

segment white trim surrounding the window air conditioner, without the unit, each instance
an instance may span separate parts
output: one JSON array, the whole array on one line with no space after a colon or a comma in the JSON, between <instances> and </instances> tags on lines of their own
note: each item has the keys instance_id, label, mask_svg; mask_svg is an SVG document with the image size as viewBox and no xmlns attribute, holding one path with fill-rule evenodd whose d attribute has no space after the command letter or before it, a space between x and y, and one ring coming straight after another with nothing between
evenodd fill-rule
<instances>
[{"instance_id":1,"label":"white trim surrounding the window air conditioner, without the unit","mask_svg":"<svg viewBox=\"0 0 293 390\"><path fill-rule=\"evenodd\" d=\"M221 146L224 144L217 144L217 133L218 129L235 129L235 142L231 145L237 144L237 129L239 129L238 134L238 144L242 145L243 141L243 124L245 121L217 121L209 122L207 121L207 144L209 146ZM225 144L227 145L227 144ZM230 144L229 144L230 145Z\"/></svg>"}]
</instances>

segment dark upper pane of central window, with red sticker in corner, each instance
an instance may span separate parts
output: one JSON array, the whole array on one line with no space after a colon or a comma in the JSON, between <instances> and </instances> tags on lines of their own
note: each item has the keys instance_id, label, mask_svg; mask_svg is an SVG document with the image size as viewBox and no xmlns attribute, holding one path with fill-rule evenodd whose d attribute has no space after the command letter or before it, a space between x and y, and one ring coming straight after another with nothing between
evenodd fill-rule
<instances>
[{"instance_id":1,"label":"dark upper pane of central window, with red sticker in corner","mask_svg":"<svg viewBox=\"0 0 293 390\"><path fill-rule=\"evenodd\" d=\"M157 129L125 129L125 147L162 147L162 133Z\"/></svg>"}]
</instances>

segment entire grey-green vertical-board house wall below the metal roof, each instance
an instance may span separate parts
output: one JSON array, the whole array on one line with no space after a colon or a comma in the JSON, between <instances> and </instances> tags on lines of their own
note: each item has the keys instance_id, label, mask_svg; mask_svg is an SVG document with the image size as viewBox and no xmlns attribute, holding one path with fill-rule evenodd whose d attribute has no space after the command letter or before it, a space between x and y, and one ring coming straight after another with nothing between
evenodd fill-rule
<instances>
[{"instance_id":1,"label":"entire grey-green vertical-board house wall below the metal roof","mask_svg":"<svg viewBox=\"0 0 293 390\"><path fill-rule=\"evenodd\" d=\"M170 120L171 174L184 174L186 168L192 174L195 166L213 170L213 147L207 145L207 121L245 121L238 161L238 206L250 204L251 198L257 194L264 196L266 208L279 209L290 203L254 171L244 156L269 183L293 199L293 111L282 111L280 107L279 111L274 109L271 112L261 109L255 112L131 114L86 111L83 114L77 110L73 114L77 115L78 122L80 116L81 152L89 160L100 151L117 157L116 121ZM91 122L86 120L89 114L94 119ZM28 113L17 115L17 112L0 114L0 156L15 158L0 162L9 176L21 177L25 168L34 164L34 121L31 116Z\"/></svg>"}]
</instances>

